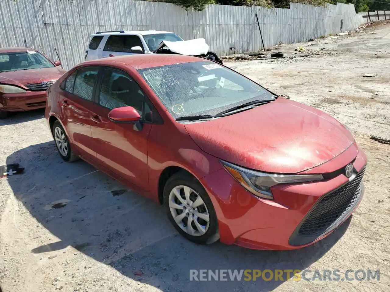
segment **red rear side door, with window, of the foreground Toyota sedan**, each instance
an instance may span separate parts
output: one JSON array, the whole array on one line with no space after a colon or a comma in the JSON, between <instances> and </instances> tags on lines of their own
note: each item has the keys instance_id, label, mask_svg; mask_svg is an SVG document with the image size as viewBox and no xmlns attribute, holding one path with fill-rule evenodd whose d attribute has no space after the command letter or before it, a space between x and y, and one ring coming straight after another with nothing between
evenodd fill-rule
<instances>
[{"instance_id":1,"label":"red rear side door, with window, of the foreground Toyota sedan","mask_svg":"<svg viewBox=\"0 0 390 292\"><path fill-rule=\"evenodd\" d=\"M60 96L61 121L69 139L78 148L81 156L94 159L92 150L91 112L96 88L98 67L82 67L71 74L65 81Z\"/></svg>"}]
</instances>

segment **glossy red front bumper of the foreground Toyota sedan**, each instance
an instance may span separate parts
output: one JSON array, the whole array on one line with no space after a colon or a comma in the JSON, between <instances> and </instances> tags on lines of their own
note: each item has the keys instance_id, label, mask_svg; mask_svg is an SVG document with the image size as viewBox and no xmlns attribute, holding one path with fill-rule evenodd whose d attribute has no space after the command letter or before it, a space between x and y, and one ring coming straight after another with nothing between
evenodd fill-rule
<instances>
[{"instance_id":1,"label":"glossy red front bumper of the foreground Toyota sedan","mask_svg":"<svg viewBox=\"0 0 390 292\"><path fill-rule=\"evenodd\" d=\"M353 162L356 171L362 171L366 162L367 158L359 151ZM345 165L340 165L342 166ZM360 186L360 193L346 212L326 228L317 230L317 233L305 234L300 232L305 220L310 214L313 215L313 210L327 194L336 192L349 182L346 176L340 174L324 181L274 186L273 201L254 196L225 169L213 172L200 181L215 207L221 242L261 250L293 250L323 239L349 218L362 200L364 192L361 176L356 186ZM319 220L326 219L326 212L319 214Z\"/></svg>"}]
</instances>

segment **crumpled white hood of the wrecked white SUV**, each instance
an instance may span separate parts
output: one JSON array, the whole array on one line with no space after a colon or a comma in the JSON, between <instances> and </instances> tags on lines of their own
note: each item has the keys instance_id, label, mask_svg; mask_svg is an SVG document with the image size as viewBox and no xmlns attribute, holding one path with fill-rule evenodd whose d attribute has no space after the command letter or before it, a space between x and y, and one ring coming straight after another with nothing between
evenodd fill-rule
<instances>
[{"instance_id":1,"label":"crumpled white hood of the wrecked white SUV","mask_svg":"<svg viewBox=\"0 0 390 292\"><path fill-rule=\"evenodd\" d=\"M163 40L157 47L156 52L163 47L168 47L172 53L188 56L206 55L209 51L209 45L206 44L206 40L203 38L176 42Z\"/></svg>"}]
</instances>

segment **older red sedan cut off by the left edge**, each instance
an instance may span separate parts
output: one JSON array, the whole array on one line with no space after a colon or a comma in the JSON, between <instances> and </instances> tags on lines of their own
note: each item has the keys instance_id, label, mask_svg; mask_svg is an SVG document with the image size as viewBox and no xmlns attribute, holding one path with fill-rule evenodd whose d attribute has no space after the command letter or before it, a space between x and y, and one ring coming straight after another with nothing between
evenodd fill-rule
<instances>
[{"instance_id":1,"label":"older red sedan cut off by the left edge","mask_svg":"<svg viewBox=\"0 0 390 292\"><path fill-rule=\"evenodd\" d=\"M0 118L46 106L46 90L66 71L34 49L0 48Z\"/></svg>"}]
</instances>

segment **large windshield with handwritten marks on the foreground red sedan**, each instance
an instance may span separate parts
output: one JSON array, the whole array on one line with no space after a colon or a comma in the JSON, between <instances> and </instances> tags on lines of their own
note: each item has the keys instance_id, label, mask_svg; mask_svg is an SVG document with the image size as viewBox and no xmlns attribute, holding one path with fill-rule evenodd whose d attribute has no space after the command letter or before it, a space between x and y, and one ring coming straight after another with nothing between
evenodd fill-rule
<instances>
[{"instance_id":1,"label":"large windshield with handwritten marks on the foreground red sedan","mask_svg":"<svg viewBox=\"0 0 390 292\"><path fill-rule=\"evenodd\" d=\"M217 63L191 62L138 70L174 118L216 115L274 95Z\"/></svg>"}]
</instances>

